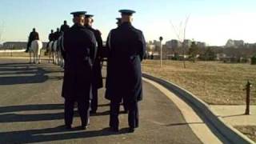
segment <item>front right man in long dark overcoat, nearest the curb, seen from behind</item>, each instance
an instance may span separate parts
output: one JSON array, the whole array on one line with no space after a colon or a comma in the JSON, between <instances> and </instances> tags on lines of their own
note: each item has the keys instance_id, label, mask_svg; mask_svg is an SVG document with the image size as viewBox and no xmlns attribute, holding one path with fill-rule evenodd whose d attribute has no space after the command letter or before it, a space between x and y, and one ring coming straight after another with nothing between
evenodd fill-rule
<instances>
[{"instance_id":1,"label":"front right man in long dark overcoat, nearest the curb, seen from behind","mask_svg":"<svg viewBox=\"0 0 256 144\"><path fill-rule=\"evenodd\" d=\"M106 98L110 98L110 129L118 131L118 114L122 98L128 106L130 132L138 127L138 101L142 100L141 62L146 42L141 30L132 26L133 10L119 10L122 24L111 30L106 78Z\"/></svg>"}]
</instances>

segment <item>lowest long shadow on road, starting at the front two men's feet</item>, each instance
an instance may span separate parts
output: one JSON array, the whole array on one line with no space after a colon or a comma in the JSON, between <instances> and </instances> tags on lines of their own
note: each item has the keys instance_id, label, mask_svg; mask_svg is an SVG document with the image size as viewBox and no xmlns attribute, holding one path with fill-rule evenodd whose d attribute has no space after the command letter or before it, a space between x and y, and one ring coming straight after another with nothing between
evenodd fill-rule
<instances>
[{"instance_id":1,"label":"lowest long shadow on road, starting at the front two men's feet","mask_svg":"<svg viewBox=\"0 0 256 144\"><path fill-rule=\"evenodd\" d=\"M73 131L64 129L64 126L58 126L41 130L23 130L0 132L0 143L33 143L33 142L54 142L59 140L72 140L77 138L94 138L117 134L126 134L128 129L122 129L118 133L110 132L109 128L102 130L79 130L75 128Z\"/></svg>"}]
</instances>

